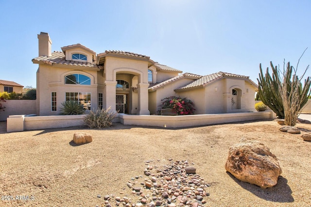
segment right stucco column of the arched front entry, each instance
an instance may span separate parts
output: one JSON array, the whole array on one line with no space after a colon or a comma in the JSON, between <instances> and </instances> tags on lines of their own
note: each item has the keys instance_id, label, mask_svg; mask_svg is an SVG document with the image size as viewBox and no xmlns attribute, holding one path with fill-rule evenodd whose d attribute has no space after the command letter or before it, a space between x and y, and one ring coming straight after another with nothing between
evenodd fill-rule
<instances>
[{"instance_id":1,"label":"right stucco column of the arched front entry","mask_svg":"<svg viewBox=\"0 0 311 207\"><path fill-rule=\"evenodd\" d=\"M150 115L148 110L148 86L149 83L138 83L138 115Z\"/></svg>"}]
</instances>

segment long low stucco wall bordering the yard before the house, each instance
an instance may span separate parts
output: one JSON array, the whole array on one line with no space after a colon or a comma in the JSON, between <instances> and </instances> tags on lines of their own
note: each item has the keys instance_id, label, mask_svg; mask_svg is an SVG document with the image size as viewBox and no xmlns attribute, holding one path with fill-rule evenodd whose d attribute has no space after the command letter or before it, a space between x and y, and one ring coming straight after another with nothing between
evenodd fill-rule
<instances>
[{"instance_id":1,"label":"long low stucco wall bordering the yard before the house","mask_svg":"<svg viewBox=\"0 0 311 207\"><path fill-rule=\"evenodd\" d=\"M45 128L61 128L82 126L85 115L65 116L26 116L12 115L7 118L7 132L35 130ZM202 125L264 120L276 118L273 111L198 114L187 116L156 116L156 115L128 115L117 114L114 122L124 125L151 126L151 127L194 127Z\"/></svg>"}]
</instances>

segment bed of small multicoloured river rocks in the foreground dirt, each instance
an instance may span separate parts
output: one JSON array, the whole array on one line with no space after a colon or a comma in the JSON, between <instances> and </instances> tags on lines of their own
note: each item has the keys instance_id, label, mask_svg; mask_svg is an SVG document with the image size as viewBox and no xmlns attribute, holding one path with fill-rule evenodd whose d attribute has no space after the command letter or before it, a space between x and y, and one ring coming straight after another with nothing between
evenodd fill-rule
<instances>
[{"instance_id":1,"label":"bed of small multicoloured river rocks in the foreground dirt","mask_svg":"<svg viewBox=\"0 0 311 207\"><path fill-rule=\"evenodd\" d=\"M204 207L209 196L206 191L209 184L195 174L195 167L189 165L187 160L169 161L169 164L162 166L153 165L154 160L145 161L144 175L132 177L123 188L124 191L131 189L134 199L115 194L104 195L104 203L96 207ZM100 194L97 197L103 199Z\"/></svg>"}]
</instances>

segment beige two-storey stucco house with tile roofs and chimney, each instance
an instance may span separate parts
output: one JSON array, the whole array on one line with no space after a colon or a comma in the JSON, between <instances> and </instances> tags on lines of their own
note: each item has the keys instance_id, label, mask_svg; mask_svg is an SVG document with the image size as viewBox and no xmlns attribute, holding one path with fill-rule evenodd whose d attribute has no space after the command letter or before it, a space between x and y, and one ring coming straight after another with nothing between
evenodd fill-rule
<instances>
[{"instance_id":1,"label":"beige two-storey stucco house with tile roofs and chimney","mask_svg":"<svg viewBox=\"0 0 311 207\"><path fill-rule=\"evenodd\" d=\"M155 114L161 99L187 97L197 114L254 109L257 84L247 76L217 72L183 73L150 57L120 50L96 54L81 44L52 52L48 33L38 34L38 115L57 115L61 103L79 101L85 109L108 108L127 114Z\"/></svg>"}]
</instances>

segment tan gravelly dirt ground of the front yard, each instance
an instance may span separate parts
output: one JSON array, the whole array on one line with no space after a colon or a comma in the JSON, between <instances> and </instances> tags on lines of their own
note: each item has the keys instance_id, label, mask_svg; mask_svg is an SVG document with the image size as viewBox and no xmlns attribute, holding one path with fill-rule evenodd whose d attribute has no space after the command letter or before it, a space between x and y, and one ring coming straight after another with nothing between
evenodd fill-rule
<instances>
[{"instance_id":1,"label":"tan gravelly dirt ground of the front yard","mask_svg":"<svg viewBox=\"0 0 311 207\"><path fill-rule=\"evenodd\" d=\"M296 127L311 131L308 124ZM134 203L138 196L127 181L144 175L146 160L157 167L173 159L194 163L210 185L206 207L310 207L311 142L279 128L276 121L180 129L117 123L101 130L6 133L6 122L0 122L0 206L95 207L112 194ZM73 144L80 131L92 134L93 142ZM228 149L241 138L258 140L276 155L283 171L276 186L261 189L226 173Z\"/></svg>"}]
</instances>

